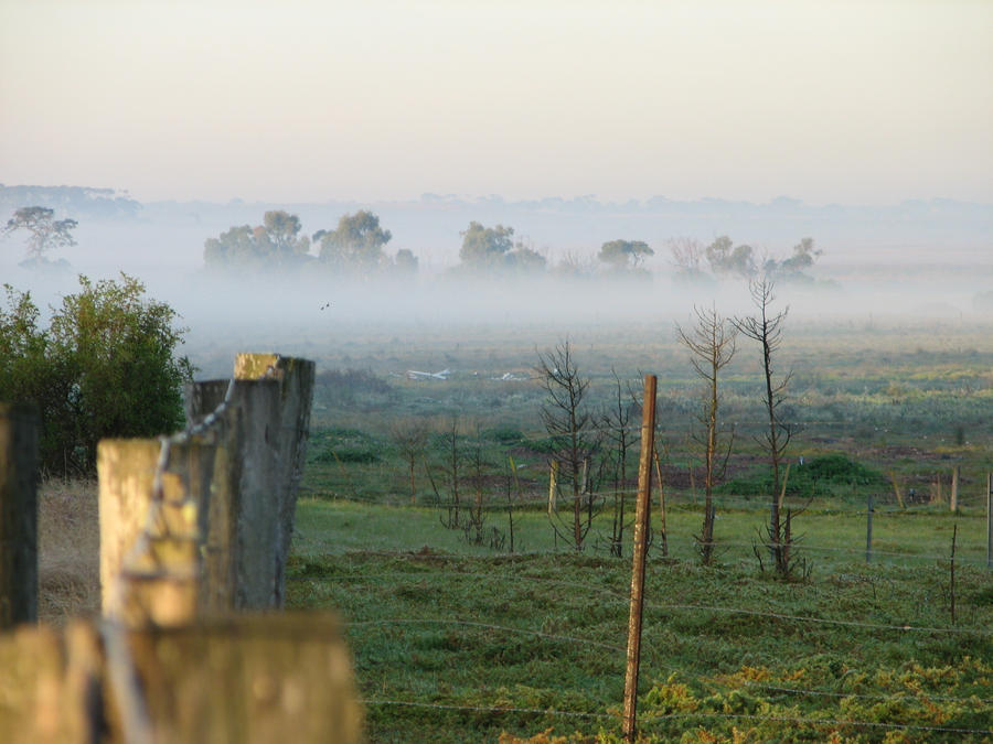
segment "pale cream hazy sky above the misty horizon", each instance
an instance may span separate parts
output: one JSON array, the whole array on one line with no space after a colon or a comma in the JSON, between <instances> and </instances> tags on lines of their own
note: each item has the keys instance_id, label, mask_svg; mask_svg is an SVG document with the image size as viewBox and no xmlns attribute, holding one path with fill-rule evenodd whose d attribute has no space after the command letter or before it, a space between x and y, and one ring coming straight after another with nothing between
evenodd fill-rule
<instances>
[{"instance_id":1,"label":"pale cream hazy sky above the misty horizon","mask_svg":"<svg viewBox=\"0 0 993 744\"><path fill-rule=\"evenodd\" d=\"M0 182L993 202L993 1L0 0Z\"/></svg>"}]
</instances>

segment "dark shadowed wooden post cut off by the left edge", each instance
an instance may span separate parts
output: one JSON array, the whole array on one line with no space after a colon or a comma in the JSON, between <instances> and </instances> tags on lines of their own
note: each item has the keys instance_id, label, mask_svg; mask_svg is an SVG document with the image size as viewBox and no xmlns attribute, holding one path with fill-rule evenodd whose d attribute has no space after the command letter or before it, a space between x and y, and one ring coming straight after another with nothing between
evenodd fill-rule
<instances>
[{"instance_id":1,"label":"dark shadowed wooden post cut off by the left edge","mask_svg":"<svg viewBox=\"0 0 993 744\"><path fill-rule=\"evenodd\" d=\"M38 619L38 414L0 403L0 629Z\"/></svg>"}]
</instances>

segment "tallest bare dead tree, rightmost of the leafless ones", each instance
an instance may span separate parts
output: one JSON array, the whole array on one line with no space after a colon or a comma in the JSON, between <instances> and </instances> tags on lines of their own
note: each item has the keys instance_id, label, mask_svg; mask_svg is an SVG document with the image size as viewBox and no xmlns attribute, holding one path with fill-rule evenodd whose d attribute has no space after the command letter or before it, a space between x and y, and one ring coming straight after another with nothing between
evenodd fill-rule
<instances>
[{"instance_id":1,"label":"tallest bare dead tree, rightmost of the leafless ones","mask_svg":"<svg viewBox=\"0 0 993 744\"><path fill-rule=\"evenodd\" d=\"M782 488L782 461L792 436L792 429L780 417L780 407L787 399L787 387L792 377L792 371L783 376L777 376L773 363L782 345L782 327L790 309L786 308L778 313L772 312L772 303L776 300L772 290L773 282L768 277L749 282L751 301L757 313L748 317L736 317L734 325L746 337L758 342L762 351L762 376L765 380L762 397L766 413L769 417L769 429L759 441L772 461L772 493L770 494L771 505L767 538L776 573L780 576L788 576L791 565L790 542L792 541L792 535L788 538L787 526L783 524L780 514L780 490Z\"/></svg>"}]
</instances>

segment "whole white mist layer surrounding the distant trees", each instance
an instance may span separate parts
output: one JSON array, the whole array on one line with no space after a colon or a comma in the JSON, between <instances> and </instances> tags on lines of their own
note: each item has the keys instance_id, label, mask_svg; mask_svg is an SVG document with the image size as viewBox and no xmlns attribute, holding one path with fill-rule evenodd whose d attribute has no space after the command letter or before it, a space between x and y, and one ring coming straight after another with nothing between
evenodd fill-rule
<instances>
[{"instance_id":1,"label":"whole white mist layer surrounding the distant trees","mask_svg":"<svg viewBox=\"0 0 993 744\"><path fill-rule=\"evenodd\" d=\"M707 200L674 203L602 204L595 200L506 203L423 197L417 202L373 205L393 233L387 255L408 248L418 271L399 277L345 277L314 265L292 274L267 271L231 274L203 265L210 237L233 225L255 225L278 205L142 205L127 196L71 194L58 190L0 190L2 206L18 201L52 204L58 216L79 223L78 245L53 258L70 267L57 272L18 266L23 247L17 234L0 246L0 278L31 290L44 309L75 291L76 273L114 278L124 271L140 278L149 294L169 302L190 328L194 363L201 349L278 348L284 353L337 356L335 344L363 334L407 339L437 334L485 335L495 330L535 338L583 337L590 328L654 326L671 336L694 305L714 305L722 314L750 311L743 279L706 277L690 282L673 263L674 239L706 244L716 235L755 247L758 256L788 254L802 237L823 252L802 283L783 282L778 301L791 308L791 323L919 324L993 322L993 247L989 205L949 201L894 207L811 207L792 200L755 205ZM291 207L303 233L333 226L351 204ZM584 276L460 273L460 231L472 219L515 227L515 237L543 255L549 268L569 258ZM654 255L644 271L621 279L598 266L601 242L617 237L643 239ZM488 331L489 330L489 331ZM537 341L533 342L537 343Z\"/></svg>"}]
</instances>

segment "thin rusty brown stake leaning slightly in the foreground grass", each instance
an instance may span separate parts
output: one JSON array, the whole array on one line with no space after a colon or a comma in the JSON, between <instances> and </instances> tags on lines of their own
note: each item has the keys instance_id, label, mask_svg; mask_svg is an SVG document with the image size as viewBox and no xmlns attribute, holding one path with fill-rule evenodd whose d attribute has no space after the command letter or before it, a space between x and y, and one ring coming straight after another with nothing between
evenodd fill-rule
<instances>
[{"instance_id":1,"label":"thin rusty brown stake leaning slightly in the foreground grass","mask_svg":"<svg viewBox=\"0 0 993 744\"><path fill-rule=\"evenodd\" d=\"M641 418L641 456L638 461L638 504L634 511L634 558L631 568L631 608L628 618L628 661L624 675L623 734L634 741L638 715L638 671L641 665L641 613L644 604L644 556L648 543L649 504L652 492L652 454L655 433L654 375L644 377Z\"/></svg>"}]
</instances>

